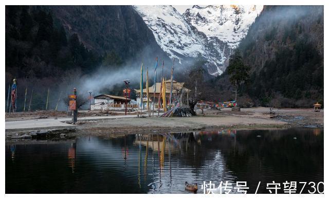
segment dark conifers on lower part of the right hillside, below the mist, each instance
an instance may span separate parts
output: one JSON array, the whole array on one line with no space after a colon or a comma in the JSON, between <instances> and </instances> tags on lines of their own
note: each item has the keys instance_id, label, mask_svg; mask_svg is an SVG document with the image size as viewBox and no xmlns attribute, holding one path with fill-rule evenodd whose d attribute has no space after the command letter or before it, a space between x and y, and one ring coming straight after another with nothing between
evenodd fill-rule
<instances>
[{"instance_id":1,"label":"dark conifers on lower part of the right hillside, below the mist","mask_svg":"<svg viewBox=\"0 0 329 199\"><path fill-rule=\"evenodd\" d=\"M282 98L290 99L282 101L283 105L295 106L293 101L305 99L305 104L297 106L310 106L306 103L311 99L323 99L323 71L323 58L305 35L297 39L293 49L281 47L259 73L253 71L245 91L261 105L266 105L271 94L280 93Z\"/></svg>"}]
</instances>

